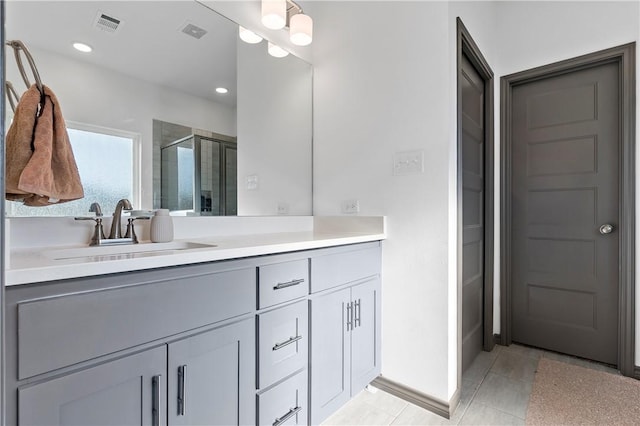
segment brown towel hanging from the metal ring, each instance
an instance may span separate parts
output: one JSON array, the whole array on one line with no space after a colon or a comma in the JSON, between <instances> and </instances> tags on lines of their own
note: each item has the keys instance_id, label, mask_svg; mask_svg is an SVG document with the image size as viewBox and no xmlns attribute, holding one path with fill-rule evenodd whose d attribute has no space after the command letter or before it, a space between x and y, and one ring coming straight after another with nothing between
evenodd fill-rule
<instances>
[{"instance_id":1,"label":"brown towel hanging from the metal ring","mask_svg":"<svg viewBox=\"0 0 640 426\"><path fill-rule=\"evenodd\" d=\"M84 197L60 105L51 89L43 86L43 90L40 116L36 117L40 92L33 85L20 99L7 134L6 196L7 199L23 199L28 206L48 206ZM23 112L21 107L25 110L24 117L19 116ZM12 133L14 126L15 136ZM32 129L31 137L27 140L29 128ZM25 164L27 154L30 156ZM20 167L19 172L16 169Z\"/></svg>"}]
</instances>

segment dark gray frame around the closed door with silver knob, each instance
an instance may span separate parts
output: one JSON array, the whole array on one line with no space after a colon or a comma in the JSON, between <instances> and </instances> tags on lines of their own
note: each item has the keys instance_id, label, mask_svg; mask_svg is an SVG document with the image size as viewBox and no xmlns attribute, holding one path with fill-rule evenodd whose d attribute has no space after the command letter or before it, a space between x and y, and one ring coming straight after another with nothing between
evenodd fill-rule
<instances>
[{"instance_id":1,"label":"dark gray frame around the closed door with silver knob","mask_svg":"<svg viewBox=\"0 0 640 426\"><path fill-rule=\"evenodd\" d=\"M500 80L500 344L512 342L512 91L515 86L607 63L620 70L618 368L635 370L635 42L504 76Z\"/></svg>"}]
</instances>

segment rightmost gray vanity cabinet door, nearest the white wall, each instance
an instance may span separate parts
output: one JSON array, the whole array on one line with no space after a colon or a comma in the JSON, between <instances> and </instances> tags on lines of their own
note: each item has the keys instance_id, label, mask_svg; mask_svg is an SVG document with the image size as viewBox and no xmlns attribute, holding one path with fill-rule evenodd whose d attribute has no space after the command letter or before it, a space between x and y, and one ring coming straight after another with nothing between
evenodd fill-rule
<instances>
[{"instance_id":1,"label":"rightmost gray vanity cabinet door, nearest the white wall","mask_svg":"<svg viewBox=\"0 0 640 426\"><path fill-rule=\"evenodd\" d=\"M351 394L356 395L380 374L380 279L353 286L351 301Z\"/></svg>"}]
</instances>

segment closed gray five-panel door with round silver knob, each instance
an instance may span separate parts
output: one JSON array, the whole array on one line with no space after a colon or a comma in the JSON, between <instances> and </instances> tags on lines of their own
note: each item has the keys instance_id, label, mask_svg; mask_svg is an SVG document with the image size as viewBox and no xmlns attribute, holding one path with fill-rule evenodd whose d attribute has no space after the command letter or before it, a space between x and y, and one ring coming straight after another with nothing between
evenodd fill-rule
<instances>
[{"instance_id":1,"label":"closed gray five-panel door with round silver knob","mask_svg":"<svg viewBox=\"0 0 640 426\"><path fill-rule=\"evenodd\" d=\"M618 64L513 89L512 339L617 364ZM602 234L602 225L613 232Z\"/></svg>"}]
</instances>

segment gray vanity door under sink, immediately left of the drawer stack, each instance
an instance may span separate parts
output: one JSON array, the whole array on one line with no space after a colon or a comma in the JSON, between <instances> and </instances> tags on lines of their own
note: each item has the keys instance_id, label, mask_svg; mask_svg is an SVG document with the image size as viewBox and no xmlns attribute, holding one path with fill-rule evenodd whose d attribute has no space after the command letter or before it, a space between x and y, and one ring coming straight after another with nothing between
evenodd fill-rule
<instances>
[{"instance_id":1,"label":"gray vanity door under sink, immediately left of the drawer stack","mask_svg":"<svg viewBox=\"0 0 640 426\"><path fill-rule=\"evenodd\" d=\"M255 424L255 321L169 345L169 424Z\"/></svg>"}]
</instances>

